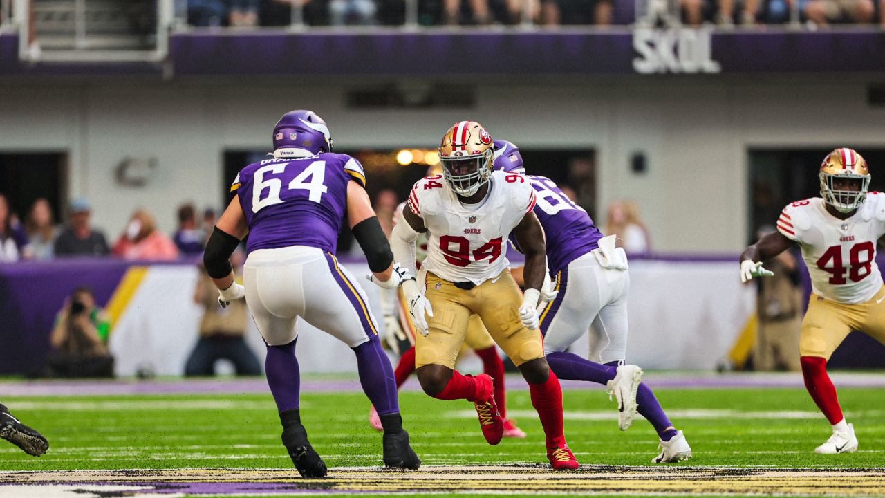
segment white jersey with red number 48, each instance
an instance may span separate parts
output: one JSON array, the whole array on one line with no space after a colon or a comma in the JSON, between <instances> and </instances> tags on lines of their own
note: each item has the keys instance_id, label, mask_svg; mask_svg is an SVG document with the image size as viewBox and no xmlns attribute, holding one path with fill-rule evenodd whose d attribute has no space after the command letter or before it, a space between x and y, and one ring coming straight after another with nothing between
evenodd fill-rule
<instances>
[{"instance_id":1,"label":"white jersey with red number 48","mask_svg":"<svg viewBox=\"0 0 885 498\"><path fill-rule=\"evenodd\" d=\"M827 213L822 198L784 207L777 229L802 247L815 294L843 304L871 300L882 286L876 242L885 234L885 194L870 192L846 220Z\"/></svg>"}]
</instances>

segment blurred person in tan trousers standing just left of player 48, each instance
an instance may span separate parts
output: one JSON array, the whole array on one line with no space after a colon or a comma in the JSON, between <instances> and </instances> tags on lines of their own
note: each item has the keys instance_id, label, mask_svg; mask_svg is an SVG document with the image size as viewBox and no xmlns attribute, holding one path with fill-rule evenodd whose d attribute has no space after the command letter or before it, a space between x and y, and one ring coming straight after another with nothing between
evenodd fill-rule
<instances>
[{"instance_id":1,"label":"blurred person in tan trousers standing just left of player 48","mask_svg":"<svg viewBox=\"0 0 885 498\"><path fill-rule=\"evenodd\" d=\"M776 230L765 226L758 230L757 240ZM799 263L792 251L784 251L766 268L774 275L755 278L758 331L753 347L755 370L802 370L799 362L799 331L802 328L802 281Z\"/></svg>"}]
</instances>

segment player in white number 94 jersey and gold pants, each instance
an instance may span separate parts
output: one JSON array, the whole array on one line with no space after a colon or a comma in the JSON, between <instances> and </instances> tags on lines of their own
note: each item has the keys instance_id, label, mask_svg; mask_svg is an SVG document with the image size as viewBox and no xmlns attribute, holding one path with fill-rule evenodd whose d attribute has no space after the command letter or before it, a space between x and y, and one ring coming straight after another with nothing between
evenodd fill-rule
<instances>
[{"instance_id":1,"label":"player in white number 94 jersey and gold pants","mask_svg":"<svg viewBox=\"0 0 885 498\"><path fill-rule=\"evenodd\" d=\"M415 268L415 240L427 232L419 279L405 276L403 292L420 332L415 363L424 392L441 400L473 401L482 434L500 442L503 419L492 378L455 370L467 322L479 315L525 377L556 470L576 469L562 426L562 390L543 354L536 310L547 272L544 236L532 208L535 190L523 175L492 172L492 137L475 121L459 121L439 148L443 175L415 183L391 237L394 258ZM526 255L523 296L506 258L513 232Z\"/></svg>"}]
</instances>

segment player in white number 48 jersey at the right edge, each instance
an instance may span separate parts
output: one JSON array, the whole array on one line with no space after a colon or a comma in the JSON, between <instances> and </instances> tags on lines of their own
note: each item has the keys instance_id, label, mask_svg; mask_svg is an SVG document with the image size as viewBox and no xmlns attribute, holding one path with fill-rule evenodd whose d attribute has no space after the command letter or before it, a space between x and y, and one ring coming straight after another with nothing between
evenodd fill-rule
<instances>
[{"instance_id":1,"label":"player in white number 48 jersey at the right edge","mask_svg":"<svg viewBox=\"0 0 885 498\"><path fill-rule=\"evenodd\" d=\"M885 286L875 262L885 235L885 194L867 192L866 160L849 148L827 154L820 165L820 198L786 206L778 231L741 254L741 279L771 276L764 261L798 244L812 276L812 297L802 322L799 354L805 387L833 425L833 435L815 453L858 449L854 426L839 406L827 375L827 360L850 331L885 344Z\"/></svg>"}]
</instances>

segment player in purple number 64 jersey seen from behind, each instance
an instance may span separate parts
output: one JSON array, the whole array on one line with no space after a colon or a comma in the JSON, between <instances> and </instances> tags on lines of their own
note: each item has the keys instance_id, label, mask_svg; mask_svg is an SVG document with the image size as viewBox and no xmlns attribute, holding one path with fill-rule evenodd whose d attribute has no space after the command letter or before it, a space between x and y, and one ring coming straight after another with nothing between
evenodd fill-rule
<instances>
[{"instance_id":1,"label":"player in purple number 64 jersey seen from behind","mask_svg":"<svg viewBox=\"0 0 885 498\"><path fill-rule=\"evenodd\" d=\"M365 187L359 162L332 152L325 121L311 111L286 113L273 128L273 159L250 164L236 175L234 198L206 244L205 268L219 288L219 303L245 298L265 339L267 383L280 412L282 442L305 478L324 477L327 469L307 440L298 409L299 316L357 355L360 383L384 428L384 463L397 469L420 465L403 429L393 369L366 293L335 259L346 215L373 281L395 288L402 279ZM247 233L241 285L229 258Z\"/></svg>"}]
</instances>

